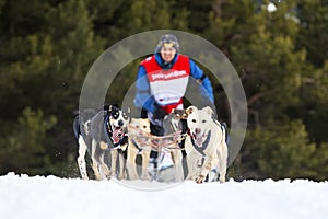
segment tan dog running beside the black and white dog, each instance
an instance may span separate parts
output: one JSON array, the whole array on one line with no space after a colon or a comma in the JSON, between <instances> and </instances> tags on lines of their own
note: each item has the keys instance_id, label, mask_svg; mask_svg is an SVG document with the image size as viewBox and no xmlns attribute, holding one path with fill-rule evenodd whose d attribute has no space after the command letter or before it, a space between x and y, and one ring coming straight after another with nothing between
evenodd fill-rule
<instances>
[{"instance_id":1,"label":"tan dog running beside the black and white dog","mask_svg":"<svg viewBox=\"0 0 328 219\"><path fill-rule=\"evenodd\" d=\"M150 122L148 118L132 118L128 126L129 146L127 154L127 171L130 180L138 180L136 158L142 157L141 178L150 180L148 174L148 164L151 153L151 147L148 143L150 137Z\"/></svg>"}]
</instances>

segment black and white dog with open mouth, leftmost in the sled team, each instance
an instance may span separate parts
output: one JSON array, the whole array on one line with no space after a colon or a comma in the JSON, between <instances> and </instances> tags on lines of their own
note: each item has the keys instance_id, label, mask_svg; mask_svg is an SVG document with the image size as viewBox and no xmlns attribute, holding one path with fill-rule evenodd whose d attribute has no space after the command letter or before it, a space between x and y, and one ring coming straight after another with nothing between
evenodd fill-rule
<instances>
[{"instance_id":1,"label":"black and white dog with open mouth, leftmost in the sled team","mask_svg":"<svg viewBox=\"0 0 328 219\"><path fill-rule=\"evenodd\" d=\"M96 180L109 178L116 174L119 151L126 151L127 124L130 110L117 105L105 105L103 110L84 110L74 119L73 129L79 143L78 164L82 178L87 180L85 153L91 155L92 169ZM112 154L112 168L107 166L107 152ZM120 158L120 174L124 174L124 158Z\"/></svg>"}]
</instances>

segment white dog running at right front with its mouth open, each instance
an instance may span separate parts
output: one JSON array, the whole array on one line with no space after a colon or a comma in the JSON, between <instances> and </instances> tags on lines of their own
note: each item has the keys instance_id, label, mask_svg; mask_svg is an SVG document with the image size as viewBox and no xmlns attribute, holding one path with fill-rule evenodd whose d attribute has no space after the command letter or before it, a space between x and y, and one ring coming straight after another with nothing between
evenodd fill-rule
<instances>
[{"instance_id":1,"label":"white dog running at right front with its mouth open","mask_svg":"<svg viewBox=\"0 0 328 219\"><path fill-rule=\"evenodd\" d=\"M227 168L227 145L225 127L214 118L211 107L186 110L190 143L186 143L188 178L203 183L212 169L218 169L220 183L225 182ZM186 139L187 140L187 139ZM197 158L198 157L198 158ZM195 176L195 165L203 158L200 173Z\"/></svg>"}]
</instances>

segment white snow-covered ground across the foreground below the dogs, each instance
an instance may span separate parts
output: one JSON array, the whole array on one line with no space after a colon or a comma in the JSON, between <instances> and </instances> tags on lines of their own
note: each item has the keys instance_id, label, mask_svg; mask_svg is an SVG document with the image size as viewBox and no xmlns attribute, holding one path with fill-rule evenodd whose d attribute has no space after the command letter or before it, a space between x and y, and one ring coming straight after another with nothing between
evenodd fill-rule
<instances>
[{"instance_id":1,"label":"white snow-covered ground across the foreground below the dogs","mask_svg":"<svg viewBox=\"0 0 328 219\"><path fill-rule=\"evenodd\" d=\"M0 218L328 218L327 182L231 180L143 186L149 189L133 189L116 180L9 173L0 176Z\"/></svg>"}]
</instances>

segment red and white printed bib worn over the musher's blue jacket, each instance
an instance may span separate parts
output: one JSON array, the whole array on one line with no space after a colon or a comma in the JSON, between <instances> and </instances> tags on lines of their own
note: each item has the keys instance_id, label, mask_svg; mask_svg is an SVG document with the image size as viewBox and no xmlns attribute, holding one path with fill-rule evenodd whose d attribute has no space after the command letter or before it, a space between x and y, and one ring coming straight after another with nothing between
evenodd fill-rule
<instances>
[{"instance_id":1,"label":"red and white printed bib worn over the musher's blue jacket","mask_svg":"<svg viewBox=\"0 0 328 219\"><path fill-rule=\"evenodd\" d=\"M145 68L150 93L166 113L183 108L183 96L186 93L190 74L190 61L187 56L178 55L171 69L164 70L151 56L141 62Z\"/></svg>"}]
</instances>

